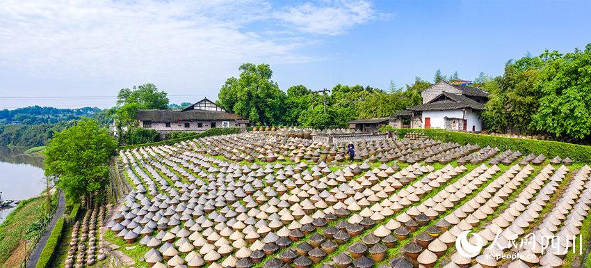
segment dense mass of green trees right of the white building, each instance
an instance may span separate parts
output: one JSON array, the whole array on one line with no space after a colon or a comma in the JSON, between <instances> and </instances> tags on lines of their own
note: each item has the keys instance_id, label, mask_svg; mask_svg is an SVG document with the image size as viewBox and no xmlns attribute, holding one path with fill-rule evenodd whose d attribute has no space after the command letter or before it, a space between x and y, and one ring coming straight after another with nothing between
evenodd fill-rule
<instances>
[{"instance_id":1,"label":"dense mass of green trees right of the white building","mask_svg":"<svg viewBox=\"0 0 591 268\"><path fill-rule=\"evenodd\" d=\"M489 131L590 135L591 44L567 54L527 54L508 61L503 75L481 74L476 82L490 93L483 112Z\"/></svg>"}]
</instances>

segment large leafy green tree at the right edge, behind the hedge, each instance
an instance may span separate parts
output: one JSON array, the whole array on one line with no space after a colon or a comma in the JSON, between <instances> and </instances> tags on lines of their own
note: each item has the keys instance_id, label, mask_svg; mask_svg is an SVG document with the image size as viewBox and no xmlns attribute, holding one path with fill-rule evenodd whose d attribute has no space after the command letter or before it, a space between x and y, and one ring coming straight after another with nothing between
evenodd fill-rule
<instances>
[{"instance_id":1,"label":"large leafy green tree at the right edge, behind the hedge","mask_svg":"<svg viewBox=\"0 0 591 268\"><path fill-rule=\"evenodd\" d=\"M533 116L535 129L583 139L591 131L591 44L581 52L560 56L540 55L546 64L535 88L540 90L540 107Z\"/></svg>"}]
</instances>

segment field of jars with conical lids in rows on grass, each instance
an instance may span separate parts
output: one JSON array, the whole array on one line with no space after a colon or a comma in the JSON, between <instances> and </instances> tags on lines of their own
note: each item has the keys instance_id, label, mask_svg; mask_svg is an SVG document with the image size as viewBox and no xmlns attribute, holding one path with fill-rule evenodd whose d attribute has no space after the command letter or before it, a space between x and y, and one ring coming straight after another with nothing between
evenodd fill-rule
<instances>
[{"instance_id":1,"label":"field of jars with conical lids in rows on grass","mask_svg":"<svg viewBox=\"0 0 591 268\"><path fill-rule=\"evenodd\" d=\"M350 160L346 144L277 132L121 150L133 190L108 214L105 239L134 267L156 268L548 268L582 258L570 238L588 236L589 166L417 134L355 150ZM473 258L456 251L466 230L484 242ZM532 233L530 245L512 244ZM549 236L556 249L544 248ZM77 249L74 265L107 252Z\"/></svg>"}]
</instances>

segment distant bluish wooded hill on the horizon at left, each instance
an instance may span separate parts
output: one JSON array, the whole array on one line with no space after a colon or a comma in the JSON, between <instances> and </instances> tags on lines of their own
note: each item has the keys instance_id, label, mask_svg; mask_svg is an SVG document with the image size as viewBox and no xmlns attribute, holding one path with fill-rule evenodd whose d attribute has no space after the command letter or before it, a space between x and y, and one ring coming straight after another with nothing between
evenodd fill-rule
<instances>
[{"instance_id":1,"label":"distant bluish wooded hill on the horizon at left","mask_svg":"<svg viewBox=\"0 0 591 268\"><path fill-rule=\"evenodd\" d=\"M91 117L99 113L97 107L59 109L55 107L24 107L14 110L0 110L0 124L44 125L76 120L82 116Z\"/></svg>"}]
</instances>

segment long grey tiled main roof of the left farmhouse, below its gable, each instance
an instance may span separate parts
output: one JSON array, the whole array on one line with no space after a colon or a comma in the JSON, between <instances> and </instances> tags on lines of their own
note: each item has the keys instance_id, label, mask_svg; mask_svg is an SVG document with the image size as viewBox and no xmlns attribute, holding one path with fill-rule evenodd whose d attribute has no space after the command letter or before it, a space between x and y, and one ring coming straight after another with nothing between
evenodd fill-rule
<instances>
[{"instance_id":1,"label":"long grey tiled main roof of the left farmhouse, below its gable","mask_svg":"<svg viewBox=\"0 0 591 268\"><path fill-rule=\"evenodd\" d=\"M233 113L202 110L138 110L138 120L152 122L177 122L177 120L238 120L244 119Z\"/></svg>"}]
</instances>

